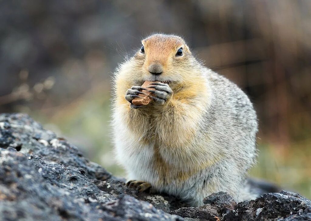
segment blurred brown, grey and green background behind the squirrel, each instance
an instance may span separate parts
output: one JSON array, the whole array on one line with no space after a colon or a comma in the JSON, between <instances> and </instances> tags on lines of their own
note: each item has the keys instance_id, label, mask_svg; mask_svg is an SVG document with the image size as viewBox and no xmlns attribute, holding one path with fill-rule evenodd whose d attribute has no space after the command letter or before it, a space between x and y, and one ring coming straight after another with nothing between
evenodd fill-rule
<instances>
[{"instance_id":1,"label":"blurred brown, grey and green background behind the squirrel","mask_svg":"<svg viewBox=\"0 0 311 221\"><path fill-rule=\"evenodd\" d=\"M251 175L311 198L311 1L0 1L0 112L26 112L115 175L110 83L152 32L182 35L253 101Z\"/></svg>"}]
</instances>

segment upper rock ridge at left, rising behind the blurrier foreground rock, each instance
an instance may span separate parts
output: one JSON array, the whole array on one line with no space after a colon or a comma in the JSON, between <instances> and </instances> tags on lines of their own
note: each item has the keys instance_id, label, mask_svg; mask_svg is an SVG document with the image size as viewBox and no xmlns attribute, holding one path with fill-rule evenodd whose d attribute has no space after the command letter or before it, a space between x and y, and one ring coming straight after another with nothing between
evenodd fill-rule
<instances>
[{"instance_id":1,"label":"upper rock ridge at left, rising behind the blurrier foreground rock","mask_svg":"<svg viewBox=\"0 0 311 221\"><path fill-rule=\"evenodd\" d=\"M12 147L27 157L40 156L47 163L80 167L92 179L105 180L111 177L103 167L84 158L77 147L58 138L52 131L43 129L28 115L1 114L0 129L0 148Z\"/></svg>"}]
</instances>

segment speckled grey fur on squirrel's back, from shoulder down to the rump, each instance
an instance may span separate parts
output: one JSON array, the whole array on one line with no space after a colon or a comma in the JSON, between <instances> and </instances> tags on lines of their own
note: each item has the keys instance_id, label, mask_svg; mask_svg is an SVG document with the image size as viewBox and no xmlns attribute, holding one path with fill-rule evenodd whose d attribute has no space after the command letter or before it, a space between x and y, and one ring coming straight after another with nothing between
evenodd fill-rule
<instances>
[{"instance_id":1,"label":"speckled grey fur on squirrel's back, from shoulder down to the rump","mask_svg":"<svg viewBox=\"0 0 311 221\"><path fill-rule=\"evenodd\" d=\"M224 182L224 186L230 182L232 189L238 192L240 189L235 196L237 201L254 199L258 193L250 189L245 179L257 156L256 112L248 96L236 84L210 69L207 69L207 77L212 99L202 130L217 143L215 146L221 148L220 153L225 158L215 165L214 172L218 172L218 180Z\"/></svg>"}]
</instances>

